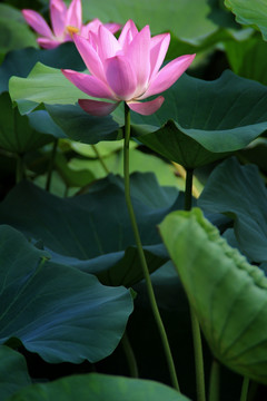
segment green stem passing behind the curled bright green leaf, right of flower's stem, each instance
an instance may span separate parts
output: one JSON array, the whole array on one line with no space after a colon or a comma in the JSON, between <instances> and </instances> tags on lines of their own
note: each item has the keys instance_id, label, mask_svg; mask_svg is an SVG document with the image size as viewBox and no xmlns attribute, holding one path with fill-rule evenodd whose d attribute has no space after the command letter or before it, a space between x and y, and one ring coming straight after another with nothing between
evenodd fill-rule
<instances>
[{"instance_id":1,"label":"green stem passing behind the curled bright green leaf, right of flower's stem","mask_svg":"<svg viewBox=\"0 0 267 401\"><path fill-rule=\"evenodd\" d=\"M185 211L191 209L192 204L192 169L186 169L186 190L185 190ZM202 342L200 326L194 309L190 306L191 330L195 352L196 365L196 385L197 385L197 400L205 401L205 374L204 374L204 356L202 356Z\"/></svg>"}]
</instances>

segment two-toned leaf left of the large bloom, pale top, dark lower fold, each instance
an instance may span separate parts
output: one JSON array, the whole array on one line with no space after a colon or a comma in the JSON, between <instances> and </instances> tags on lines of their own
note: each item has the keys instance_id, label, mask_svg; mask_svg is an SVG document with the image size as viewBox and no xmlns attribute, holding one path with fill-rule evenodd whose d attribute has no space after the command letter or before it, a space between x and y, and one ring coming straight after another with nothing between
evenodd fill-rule
<instances>
[{"instance_id":1,"label":"two-toned leaf left of the large bloom, pale top, dark lower fold","mask_svg":"<svg viewBox=\"0 0 267 401\"><path fill-rule=\"evenodd\" d=\"M59 69L38 62L28 78L12 77L9 87L11 98L17 101L22 115L44 102L51 117L50 125L56 125L71 139L96 144L121 138L120 127L110 116L93 117L75 106L79 98L88 96L66 79ZM42 121L36 119L34 127L42 131Z\"/></svg>"}]
</instances>

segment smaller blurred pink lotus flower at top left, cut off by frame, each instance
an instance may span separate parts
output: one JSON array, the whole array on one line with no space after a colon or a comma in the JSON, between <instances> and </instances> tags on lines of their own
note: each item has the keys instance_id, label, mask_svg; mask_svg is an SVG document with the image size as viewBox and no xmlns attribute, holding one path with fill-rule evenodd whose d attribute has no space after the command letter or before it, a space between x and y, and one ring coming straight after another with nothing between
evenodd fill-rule
<instances>
[{"instance_id":1,"label":"smaller blurred pink lotus flower at top left, cut off by frame","mask_svg":"<svg viewBox=\"0 0 267 401\"><path fill-rule=\"evenodd\" d=\"M88 38L89 31L97 32L101 22L98 19L88 25L82 25L81 1L72 0L69 8L62 0L50 0L50 20L52 30L46 20L33 10L22 10L22 14L29 26L41 37L37 39L38 43L44 49L52 49L66 41L72 41L73 33ZM120 29L118 23L107 23L106 27L116 32Z\"/></svg>"}]
</instances>

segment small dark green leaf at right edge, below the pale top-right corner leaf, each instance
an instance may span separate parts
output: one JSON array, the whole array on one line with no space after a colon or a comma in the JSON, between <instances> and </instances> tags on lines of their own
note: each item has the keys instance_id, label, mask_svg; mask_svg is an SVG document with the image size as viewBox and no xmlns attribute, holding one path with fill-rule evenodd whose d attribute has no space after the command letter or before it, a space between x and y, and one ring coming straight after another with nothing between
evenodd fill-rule
<instances>
[{"instance_id":1,"label":"small dark green leaf at right edge, below the pale top-right corner leaf","mask_svg":"<svg viewBox=\"0 0 267 401\"><path fill-rule=\"evenodd\" d=\"M267 43L258 35L237 42L229 40L225 42L225 50L231 69L244 78L255 79L264 85L266 77L266 52Z\"/></svg>"}]
</instances>

